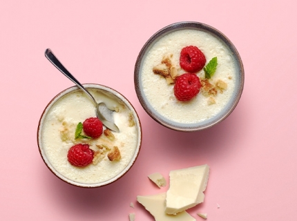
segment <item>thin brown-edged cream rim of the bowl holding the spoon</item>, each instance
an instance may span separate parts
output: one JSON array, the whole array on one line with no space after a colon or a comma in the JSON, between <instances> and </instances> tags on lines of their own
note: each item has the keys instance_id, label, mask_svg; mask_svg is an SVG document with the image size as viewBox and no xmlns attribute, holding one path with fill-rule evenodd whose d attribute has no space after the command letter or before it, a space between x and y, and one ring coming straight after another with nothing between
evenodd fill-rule
<instances>
[{"instance_id":1,"label":"thin brown-edged cream rim of the bowl holding the spoon","mask_svg":"<svg viewBox=\"0 0 297 221\"><path fill-rule=\"evenodd\" d=\"M128 162L128 164L124 167L124 169L119 174L117 174L115 177L112 177L110 180L106 180L104 182L99 182L99 183L95 183L95 184L84 184L81 182L75 182L73 180L68 179L64 175L61 175L61 173L59 173L59 171L55 170L54 167L50 164L50 162L48 161L48 159L46 157L46 154L44 153L44 149L42 148L41 131L42 131L42 124L44 122L44 118L46 117L46 114L50 110L51 106L53 104L55 104L55 102L57 102L57 100L60 99L61 97L63 97L64 95L66 95L68 93L72 93L75 90L80 90L80 88L78 86L71 86L69 88L66 88L66 89L62 90L60 93L58 93L57 95L55 95L55 97L53 97L50 100L50 102L48 102L48 104L46 105L46 108L44 108L44 111L41 113L41 117L39 119L39 123L37 126L37 146L38 146L41 158L44 161L44 164L46 164L46 166L48 167L48 169L60 180L66 182L67 184L71 184L73 186L90 189L90 188L97 188L97 187L102 187L102 186L112 184L113 182L122 178L131 169L131 167L135 164L135 161L137 160L137 157L140 153L140 149L142 146L142 125L140 122L140 117L137 114L137 111L135 110L135 108L133 107L131 102L129 102L129 100L126 99L126 97L124 97L124 95L119 93L117 90L110 88L108 86L104 86L102 84L82 84L82 85L85 88L94 88L94 89L104 90L105 92L112 93L113 95L115 95L115 97L118 97L120 100L122 100L124 102L124 104L126 104L128 106L128 108L132 111L132 113L134 115L135 124L137 127L137 133L138 133L137 146L135 148L135 152L133 153L133 157L131 158L130 162Z\"/></svg>"}]
</instances>

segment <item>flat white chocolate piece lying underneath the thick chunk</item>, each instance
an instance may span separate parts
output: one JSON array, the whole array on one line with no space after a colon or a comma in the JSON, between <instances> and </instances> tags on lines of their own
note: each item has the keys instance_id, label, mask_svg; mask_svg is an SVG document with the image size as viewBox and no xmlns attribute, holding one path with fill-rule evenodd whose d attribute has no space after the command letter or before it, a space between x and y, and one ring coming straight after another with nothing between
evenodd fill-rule
<instances>
[{"instance_id":1,"label":"flat white chocolate piece lying underneath the thick chunk","mask_svg":"<svg viewBox=\"0 0 297 221\"><path fill-rule=\"evenodd\" d=\"M169 215L165 211L166 193L159 193L157 195L137 195L137 201L145 207L145 209L153 215L157 221L195 221L189 213L182 211L176 215Z\"/></svg>"}]
</instances>

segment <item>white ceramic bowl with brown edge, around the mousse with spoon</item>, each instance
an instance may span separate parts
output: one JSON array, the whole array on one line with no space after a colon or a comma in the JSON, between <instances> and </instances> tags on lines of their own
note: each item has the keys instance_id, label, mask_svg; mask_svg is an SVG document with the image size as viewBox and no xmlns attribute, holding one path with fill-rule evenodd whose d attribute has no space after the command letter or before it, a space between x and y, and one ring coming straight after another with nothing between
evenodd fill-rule
<instances>
[{"instance_id":1,"label":"white ceramic bowl with brown edge, around the mousse with spoon","mask_svg":"<svg viewBox=\"0 0 297 221\"><path fill-rule=\"evenodd\" d=\"M99 187L99 186L105 186L107 184L111 184L117 180L119 180L120 177L122 177L125 173L128 172L129 169L131 169L131 166L133 166L133 164L135 163L135 160L137 159L138 153L140 151L140 147L142 144L142 128L141 128L141 124L140 124L140 119L135 111L135 109L133 108L132 104L130 102L128 102L128 100L120 93L118 93L117 91L113 90L112 88L108 88L107 86L102 86L99 84L84 84L84 86L88 89L90 88L94 88L96 90L101 91L102 93L110 96L112 99L118 99L119 102L122 102L121 104L124 103L124 105L126 106L126 108L128 108L129 111L131 111L134 121L135 121L135 127L136 127L136 147L135 147L135 151L133 151L133 153L131 153L131 155L129 155L128 157L130 157L131 160L128 160L128 162L125 163L125 166L120 169L120 171L118 171L113 177L108 178L108 180L103 180L100 182L95 182L95 183L87 183L87 182L77 182L75 179L70 179L67 175L63 175L60 173L59 169L57 169L57 166L53 166L52 161L52 157L51 160L49 159L50 157L48 157L48 155L46 154L46 144L43 143L43 132L45 130L45 118L46 115L48 115L50 109L52 108L52 106L59 101L64 95L68 95L69 93L73 93L77 90L80 90L77 86L73 86L71 88L68 88L66 90L63 90L61 93L59 93L58 95L56 95L48 104L48 106L46 106L44 112L41 115L41 118L39 120L39 125L38 125L38 130L37 130L37 142L38 142L38 146L39 146L39 152L41 154L42 159L44 160L44 163L46 164L46 166L48 166L48 169L50 169L50 171L52 171L52 173L54 173L57 177L59 177L59 179L63 180L64 182L67 182L68 184L73 184L75 186L79 186L79 187L86 187L86 188L92 188L92 187ZM82 91L82 90L80 90ZM86 99L88 99L88 97L86 97ZM90 101L90 104L93 105L93 103ZM94 110L95 110L95 106L94 106ZM65 112L67 114L67 111ZM53 139L60 139L59 137L55 137ZM67 152L64 151L63 153L64 155L67 154ZM65 158L66 156L64 156ZM65 158L67 159L67 158ZM122 159L121 159L122 160ZM66 161L66 160L65 160ZM69 164L69 162L63 162L64 164ZM65 166L65 165L64 165ZM68 166L68 165L66 165ZM94 165L90 165L90 166L94 166ZM97 166L97 165L95 165ZM84 169L82 169L84 170ZM99 176L100 174L98 174Z\"/></svg>"}]
</instances>

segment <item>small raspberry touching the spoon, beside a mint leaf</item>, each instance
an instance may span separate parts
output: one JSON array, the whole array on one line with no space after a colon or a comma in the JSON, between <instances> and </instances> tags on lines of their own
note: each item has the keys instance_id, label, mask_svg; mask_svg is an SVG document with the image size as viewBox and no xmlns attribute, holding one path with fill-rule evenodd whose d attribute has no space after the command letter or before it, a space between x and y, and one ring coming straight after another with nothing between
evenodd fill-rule
<instances>
[{"instance_id":1,"label":"small raspberry touching the spoon, beside a mint leaf","mask_svg":"<svg viewBox=\"0 0 297 221\"><path fill-rule=\"evenodd\" d=\"M103 124L97 117L90 117L82 124L84 133L92 138L98 138L103 133Z\"/></svg>"}]
</instances>

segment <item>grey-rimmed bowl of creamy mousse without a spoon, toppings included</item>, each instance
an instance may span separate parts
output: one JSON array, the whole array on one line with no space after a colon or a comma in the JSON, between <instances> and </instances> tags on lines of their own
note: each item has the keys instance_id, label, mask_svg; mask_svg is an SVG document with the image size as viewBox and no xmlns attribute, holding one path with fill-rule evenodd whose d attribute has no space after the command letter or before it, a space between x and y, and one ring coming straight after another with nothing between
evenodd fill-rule
<instances>
[{"instance_id":1,"label":"grey-rimmed bowl of creamy mousse without a spoon, toppings included","mask_svg":"<svg viewBox=\"0 0 297 221\"><path fill-rule=\"evenodd\" d=\"M190 132L230 115L242 94L244 70L222 32L203 23L180 22L144 44L134 81L148 115L168 128Z\"/></svg>"}]
</instances>

